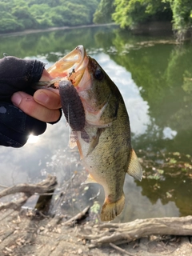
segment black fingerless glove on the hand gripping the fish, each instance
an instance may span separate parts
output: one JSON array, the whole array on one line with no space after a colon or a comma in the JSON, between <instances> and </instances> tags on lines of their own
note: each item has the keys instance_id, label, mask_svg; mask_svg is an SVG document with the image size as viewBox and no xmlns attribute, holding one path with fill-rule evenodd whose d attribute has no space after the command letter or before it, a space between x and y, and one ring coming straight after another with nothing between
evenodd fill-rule
<instances>
[{"instance_id":1,"label":"black fingerless glove on the hand gripping the fish","mask_svg":"<svg viewBox=\"0 0 192 256\"><path fill-rule=\"evenodd\" d=\"M37 60L0 59L0 145L20 147L31 133L38 135L46 130L46 122L28 116L10 101L19 90L34 94L31 85L39 81L44 66Z\"/></svg>"}]
</instances>

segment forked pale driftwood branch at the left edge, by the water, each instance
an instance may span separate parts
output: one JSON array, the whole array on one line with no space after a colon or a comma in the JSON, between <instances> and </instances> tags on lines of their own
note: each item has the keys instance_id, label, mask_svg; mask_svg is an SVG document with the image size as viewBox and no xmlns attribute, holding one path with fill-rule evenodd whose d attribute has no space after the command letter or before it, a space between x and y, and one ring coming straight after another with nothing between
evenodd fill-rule
<instances>
[{"instance_id":1,"label":"forked pale driftwood branch at the left edge, by the water","mask_svg":"<svg viewBox=\"0 0 192 256\"><path fill-rule=\"evenodd\" d=\"M49 175L45 180L37 184L18 184L10 186L5 190L0 191L0 198L16 193L24 193L22 197L18 198L14 202L7 202L0 205L0 210L14 209L18 210L32 194L44 194L53 192L57 185L56 177Z\"/></svg>"}]
</instances>

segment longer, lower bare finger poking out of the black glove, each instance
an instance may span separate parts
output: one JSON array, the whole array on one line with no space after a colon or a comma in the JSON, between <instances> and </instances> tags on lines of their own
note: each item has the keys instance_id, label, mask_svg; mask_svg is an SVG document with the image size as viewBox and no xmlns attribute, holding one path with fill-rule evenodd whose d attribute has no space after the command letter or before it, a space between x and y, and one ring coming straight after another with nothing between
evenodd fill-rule
<instances>
[{"instance_id":1,"label":"longer, lower bare finger poking out of the black glove","mask_svg":"<svg viewBox=\"0 0 192 256\"><path fill-rule=\"evenodd\" d=\"M46 106L34 101L33 96L24 92L17 92L11 97L14 106L42 122L57 122L61 116L60 110L50 110Z\"/></svg>"}]
</instances>

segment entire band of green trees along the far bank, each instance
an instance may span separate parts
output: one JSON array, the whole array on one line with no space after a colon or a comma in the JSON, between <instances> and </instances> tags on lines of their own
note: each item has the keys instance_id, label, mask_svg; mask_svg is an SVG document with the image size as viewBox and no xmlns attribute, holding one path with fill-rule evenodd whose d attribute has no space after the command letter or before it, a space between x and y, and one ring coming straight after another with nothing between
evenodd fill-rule
<instances>
[{"instance_id":1,"label":"entire band of green trees along the far bank","mask_svg":"<svg viewBox=\"0 0 192 256\"><path fill-rule=\"evenodd\" d=\"M178 34L192 26L192 0L0 0L0 33L116 22L134 28L169 21Z\"/></svg>"}]
</instances>

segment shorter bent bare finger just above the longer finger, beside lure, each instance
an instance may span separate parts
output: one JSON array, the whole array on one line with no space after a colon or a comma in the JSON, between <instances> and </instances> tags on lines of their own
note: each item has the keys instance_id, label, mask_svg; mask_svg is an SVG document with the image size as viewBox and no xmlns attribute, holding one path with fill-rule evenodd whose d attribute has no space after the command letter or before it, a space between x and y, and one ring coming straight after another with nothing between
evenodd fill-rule
<instances>
[{"instance_id":1,"label":"shorter bent bare finger just above the longer finger, beside lure","mask_svg":"<svg viewBox=\"0 0 192 256\"><path fill-rule=\"evenodd\" d=\"M34 100L50 110L57 110L61 107L58 90L36 90L34 93Z\"/></svg>"}]
</instances>

